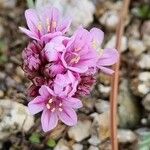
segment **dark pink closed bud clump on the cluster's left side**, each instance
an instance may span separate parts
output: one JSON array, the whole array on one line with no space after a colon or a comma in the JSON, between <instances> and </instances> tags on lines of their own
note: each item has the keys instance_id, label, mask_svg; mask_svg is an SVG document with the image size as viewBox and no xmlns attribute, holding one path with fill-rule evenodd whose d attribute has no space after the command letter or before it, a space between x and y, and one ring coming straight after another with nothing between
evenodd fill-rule
<instances>
[{"instance_id":1,"label":"dark pink closed bud clump on the cluster's left side","mask_svg":"<svg viewBox=\"0 0 150 150\"><path fill-rule=\"evenodd\" d=\"M33 76L41 65L40 53L42 46L33 41L22 52L23 69L27 76Z\"/></svg>"}]
</instances>

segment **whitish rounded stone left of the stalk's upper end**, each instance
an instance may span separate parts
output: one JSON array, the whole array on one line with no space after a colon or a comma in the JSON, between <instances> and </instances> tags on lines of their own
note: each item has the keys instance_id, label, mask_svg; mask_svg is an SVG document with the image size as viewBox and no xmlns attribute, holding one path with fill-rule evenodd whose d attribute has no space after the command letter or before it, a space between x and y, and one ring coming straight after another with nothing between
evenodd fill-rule
<instances>
[{"instance_id":1,"label":"whitish rounded stone left of the stalk's upper end","mask_svg":"<svg viewBox=\"0 0 150 150\"><path fill-rule=\"evenodd\" d=\"M104 25L106 29L115 31L119 22L118 12L115 10L106 11L99 19L99 22Z\"/></svg>"}]
</instances>

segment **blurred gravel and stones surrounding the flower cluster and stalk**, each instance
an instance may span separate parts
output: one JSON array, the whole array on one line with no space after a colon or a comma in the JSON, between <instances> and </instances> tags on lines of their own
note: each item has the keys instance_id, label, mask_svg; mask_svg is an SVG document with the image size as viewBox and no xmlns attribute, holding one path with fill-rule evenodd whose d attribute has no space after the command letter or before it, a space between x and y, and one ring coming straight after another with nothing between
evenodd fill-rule
<instances>
[{"instance_id":1,"label":"blurred gravel and stones surrounding the flower cluster and stalk","mask_svg":"<svg viewBox=\"0 0 150 150\"><path fill-rule=\"evenodd\" d=\"M28 39L24 10L57 7L73 18L69 31L82 25L105 32L103 48L115 47L115 30L122 0L0 0L0 149L111 150L109 127L110 77L100 74L89 97L82 98L75 127L59 124L43 133L40 115L31 116L21 69L21 52ZM150 0L132 0L121 42L118 99L119 150L150 150Z\"/></svg>"}]
</instances>

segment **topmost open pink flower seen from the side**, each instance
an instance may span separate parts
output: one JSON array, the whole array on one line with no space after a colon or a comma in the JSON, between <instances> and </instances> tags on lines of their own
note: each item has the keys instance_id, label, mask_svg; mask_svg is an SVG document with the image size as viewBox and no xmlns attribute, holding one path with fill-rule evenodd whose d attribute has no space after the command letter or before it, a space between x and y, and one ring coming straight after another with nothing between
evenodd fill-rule
<instances>
[{"instance_id":1,"label":"topmost open pink flower seen from the side","mask_svg":"<svg viewBox=\"0 0 150 150\"><path fill-rule=\"evenodd\" d=\"M29 29L20 27L20 30L37 41L49 41L64 34L71 23L69 19L60 22L59 11L54 7L28 9L25 11L25 18Z\"/></svg>"}]
</instances>

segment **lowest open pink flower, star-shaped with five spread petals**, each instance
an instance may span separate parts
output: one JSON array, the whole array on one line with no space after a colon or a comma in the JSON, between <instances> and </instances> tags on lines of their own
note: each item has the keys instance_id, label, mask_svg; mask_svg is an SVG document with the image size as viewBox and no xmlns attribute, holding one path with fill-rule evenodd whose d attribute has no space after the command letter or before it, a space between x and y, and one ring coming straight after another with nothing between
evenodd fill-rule
<instances>
[{"instance_id":1,"label":"lowest open pink flower, star-shaped with five spread petals","mask_svg":"<svg viewBox=\"0 0 150 150\"><path fill-rule=\"evenodd\" d=\"M41 123L45 132L57 126L58 119L63 123L73 126L77 123L77 115L74 109L82 107L79 99L74 97L59 97L55 90L43 85L39 89L39 96L29 103L32 114L42 112Z\"/></svg>"}]
</instances>

